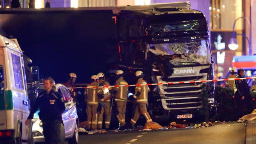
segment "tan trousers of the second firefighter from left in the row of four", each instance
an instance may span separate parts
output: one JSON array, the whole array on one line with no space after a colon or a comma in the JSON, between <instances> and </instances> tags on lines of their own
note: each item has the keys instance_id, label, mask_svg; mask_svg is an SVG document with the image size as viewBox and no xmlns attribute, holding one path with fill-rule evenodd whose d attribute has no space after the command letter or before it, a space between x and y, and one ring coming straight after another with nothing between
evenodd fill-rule
<instances>
[{"instance_id":1,"label":"tan trousers of the second firefighter from left in the row of four","mask_svg":"<svg viewBox=\"0 0 256 144\"><path fill-rule=\"evenodd\" d=\"M103 122L103 114L105 116L105 127L106 129L109 129L110 121L111 121L111 104L110 102L105 102L104 107L102 107L102 110L100 113L98 113L98 129L102 129L102 122Z\"/></svg>"}]
</instances>

